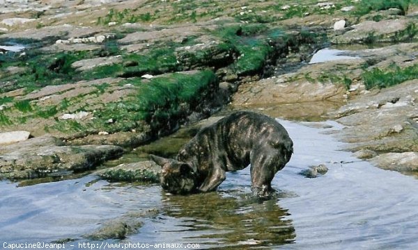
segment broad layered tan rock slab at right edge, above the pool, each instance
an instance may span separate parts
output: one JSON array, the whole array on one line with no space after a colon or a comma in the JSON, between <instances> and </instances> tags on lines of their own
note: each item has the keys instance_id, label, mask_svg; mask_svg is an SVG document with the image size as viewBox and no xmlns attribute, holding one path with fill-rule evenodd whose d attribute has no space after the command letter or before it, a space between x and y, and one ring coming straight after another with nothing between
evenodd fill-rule
<instances>
[{"instance_id":1,"label":"broad layered tan rock slab at right edge, above the pool","mask_svg":"<svg viewBox=\"0 0 418 250\"><path fill-rule=\"evenodd\" d=\"M337 112L344 128L339 137L351 142L348 148L376 152L418 151L418 81L406 81L391 88L376 90L350 101Z\"/></svg>"}]
</instances>

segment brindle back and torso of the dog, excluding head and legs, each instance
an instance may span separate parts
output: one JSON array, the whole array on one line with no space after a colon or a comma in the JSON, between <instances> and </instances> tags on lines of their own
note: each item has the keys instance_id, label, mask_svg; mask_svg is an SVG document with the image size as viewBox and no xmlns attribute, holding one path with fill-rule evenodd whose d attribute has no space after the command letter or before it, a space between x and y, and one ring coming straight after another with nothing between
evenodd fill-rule
<instances>
[{"instance_id":1,"label":"brindle back and torso of the dog, excluding head and legs","mask_svg":"<svg viewBox=\"0 0 418 250\"><path fill-rule=\"evenodd\" d=\"M275 119L252 112L233 113L219 122L203 128L180 150L178 160L194 161L198 170L210 167L219 158L225 171L238 170L251 163L254 156L267 147L285 147L293 152L293 142L286 129ZM290 158L290 156L288 156Z\"/></svg>"}]
</instances>

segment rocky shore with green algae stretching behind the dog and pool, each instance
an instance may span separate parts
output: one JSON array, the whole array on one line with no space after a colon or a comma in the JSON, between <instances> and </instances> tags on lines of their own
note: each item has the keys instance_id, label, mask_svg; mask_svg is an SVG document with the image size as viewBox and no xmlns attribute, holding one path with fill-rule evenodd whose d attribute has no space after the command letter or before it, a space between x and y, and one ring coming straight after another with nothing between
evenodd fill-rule
<instances>
[{"instance_id":1,"label":"rocky shore with green algae stretching behind the dog and pool","mask_svg":"<svg viewBox=\"0 0 418 250\"><path fill-rule=\"evenodd\" d=\"M0 3L0 178L94 169L226 104L335 119L359 158L418 169L416 1Z\"/></svg>"}]
</instances>

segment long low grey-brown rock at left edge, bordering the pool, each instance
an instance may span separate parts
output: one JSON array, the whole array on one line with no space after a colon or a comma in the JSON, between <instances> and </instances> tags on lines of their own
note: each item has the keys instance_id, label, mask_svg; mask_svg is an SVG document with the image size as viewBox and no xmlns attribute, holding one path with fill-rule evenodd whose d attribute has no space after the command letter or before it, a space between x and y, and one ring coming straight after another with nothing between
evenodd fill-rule
<instances>
[{"instance_id":1,"label":"long low grey-brown rock at left edge, bordering the pool","mask_svg":"<svg viewBox=\"0 0 418 250\"><path fill-rule=\"evenodd\" d=\"M104 160L121 156L111 145L65 146L51 136L0 146L0 178L39 178L92 169Z\"/></svg>"}]
</instances>

